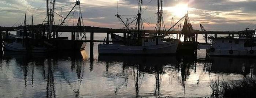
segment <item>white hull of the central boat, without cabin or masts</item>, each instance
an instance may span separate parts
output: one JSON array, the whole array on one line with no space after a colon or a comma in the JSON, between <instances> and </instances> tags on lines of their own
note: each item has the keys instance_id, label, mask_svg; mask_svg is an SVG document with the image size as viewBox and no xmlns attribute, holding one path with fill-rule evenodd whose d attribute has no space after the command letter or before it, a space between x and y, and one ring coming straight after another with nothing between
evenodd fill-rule
<instances>
[{"instance_id":1,"label":"white hull of the central boat, without cabin or masts","mask_svg":"<svg viewBox=\"0 0 256 98\"><path fill-rule=\"evenodd\" d=\"M117 44L99 44L99 54L175 54L178 48L178 41L166 42L153 46L125 46Z\"/></svg>"}]
</instances>

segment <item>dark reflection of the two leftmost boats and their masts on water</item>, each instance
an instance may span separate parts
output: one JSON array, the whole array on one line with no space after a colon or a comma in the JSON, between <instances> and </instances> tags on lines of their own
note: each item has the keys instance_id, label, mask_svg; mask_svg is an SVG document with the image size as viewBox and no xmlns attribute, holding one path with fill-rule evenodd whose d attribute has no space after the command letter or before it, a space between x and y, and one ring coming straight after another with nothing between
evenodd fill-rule
<instances>
[{"instance_id":1,"label":"dark reflection of the two leftmost boats and their masts on water","mask_svg":"<svg viewBox=\"0 0 256 98\"><path fill-rule=\"evenodd\" d=\"M84 74L83 71L85 64L83 64L83 62L87 60L87 58L88 56L84 50L81 52L61 51L56 53L23 53L5 51L3 54L3 59L7 64L10 63L10 61L15 61L17 68L23 71L25 91L27 91L27 86L46 84L46 92L44 93L46 95L40 95L41 97L46 98L57 97L57 88L55 83L60 80L63 80L63 83L68 84L69 89L73 89L75 97L79 97L79 90ZM39 74L41 75L34 75L35 70L36 72L40 72ZM30 74L31 78L29 78ZM40 80L44 80L45 82L34 84L34 81L38 82ZM30 97L32 96L33 95L31 94Z\"/></svg>"}]
</instances>

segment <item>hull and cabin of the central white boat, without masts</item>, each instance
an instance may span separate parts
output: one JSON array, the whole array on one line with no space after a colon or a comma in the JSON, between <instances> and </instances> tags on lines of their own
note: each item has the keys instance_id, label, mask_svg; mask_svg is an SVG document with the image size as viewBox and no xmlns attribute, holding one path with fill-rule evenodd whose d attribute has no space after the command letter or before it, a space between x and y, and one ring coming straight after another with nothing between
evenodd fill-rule
<instances>
[{"instance_id":1,"label":"hull and cabin of the central white boat, without masts","mask_svg":"<svg viewBox=\"0 0 256 98\"><path fill-rule=\"evenodd\" d=\"M179 41L162 41L164 36L141 37L142 44L136 46L122 44L99 44L99 54L175 54Z\"/></svg>"}]
</instances>

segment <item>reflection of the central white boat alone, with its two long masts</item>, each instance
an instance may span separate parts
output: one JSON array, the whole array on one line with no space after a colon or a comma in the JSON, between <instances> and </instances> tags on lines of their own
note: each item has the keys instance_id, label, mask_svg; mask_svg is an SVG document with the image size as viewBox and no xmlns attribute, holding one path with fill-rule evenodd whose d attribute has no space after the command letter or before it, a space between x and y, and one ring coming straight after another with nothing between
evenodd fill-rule
<instances>
[{"instance_id":1,"label":"reflection of the central white boat alone, with its two long masts","mask_svg":"<svg viewBox=\"0 0 256 98\"><path fill-rule=\"evenodd\" d=\"M140 97L140 86L144 78L144 73L155 75L156 83L154 94L155 97L161 97L160 95L160 85L161 85L161 75L164 73L163 67L165 65L176 65L175 56L108 56L100 55L99 61L106 62L106 70L110 66L109 63L122 62L123 72L125 69L132 68L132 73L134 80L134 89L136 97ZM120 86L127 84L128 76L126 76L124 82L119 85L115 93L120 89Z\"/></svg>"}]
</instances>

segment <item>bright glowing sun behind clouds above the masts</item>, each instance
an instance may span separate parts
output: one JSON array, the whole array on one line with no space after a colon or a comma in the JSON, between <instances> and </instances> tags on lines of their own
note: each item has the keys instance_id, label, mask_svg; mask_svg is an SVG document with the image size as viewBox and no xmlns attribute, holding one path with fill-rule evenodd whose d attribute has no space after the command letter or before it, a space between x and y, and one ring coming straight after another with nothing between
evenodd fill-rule
<instances>
[{"instance_id":1,"label":"bright glowing sun behind clouds above the masts","mask_svg":"<svg viewBox=\"0 0 256 98\"><path fill-rule=\"evenodd\" d=\"M172 15L182 17L188 12L187 4L177 4L174 7L167 7L164 10L171 12Z\"/></svg>"}]
</instances>

